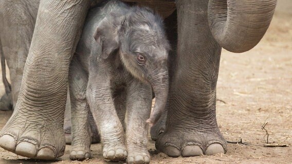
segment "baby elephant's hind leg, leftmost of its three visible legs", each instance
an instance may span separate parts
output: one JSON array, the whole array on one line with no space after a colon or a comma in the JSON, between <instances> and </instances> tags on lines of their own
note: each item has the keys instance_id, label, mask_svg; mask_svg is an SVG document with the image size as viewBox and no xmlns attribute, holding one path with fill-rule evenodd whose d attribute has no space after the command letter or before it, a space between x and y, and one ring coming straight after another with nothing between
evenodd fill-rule
<instances>
[{"instance_id":1,"label":"baby elephant's hind leg, leftmost of its three visible legs","mask_svg":"<svg viewBox=\"0 0 292 164\"><path fill-rule=\"evenodd\" d=\"M89 106L86 100L87 77L78 61L72 59L69 72L71 101L71 160L90 158Z\"/></svg>"}]
</instances>

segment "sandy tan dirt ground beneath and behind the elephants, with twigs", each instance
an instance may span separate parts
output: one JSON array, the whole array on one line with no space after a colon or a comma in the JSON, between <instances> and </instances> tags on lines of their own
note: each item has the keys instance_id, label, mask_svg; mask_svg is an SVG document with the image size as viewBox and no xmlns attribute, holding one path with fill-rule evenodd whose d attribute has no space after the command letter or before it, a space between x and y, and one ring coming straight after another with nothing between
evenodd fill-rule
<instances>
[{"instance_id":1,"label":"sandy tan dirt ground beneath and behind the elephants, with twigs","mask_svg":"<svg viewBox=\"0 0 292 164\"><path fill-rule=\"evenodd\" d=\"M261 42L234 54L223 50L217 83L217 121L228 144L226 154L171 158L156 153L149 137L151 163L292 163L292 1L278 0L275 16ZM0 77L0 93L4 93ZM0 128L12 112L0 112ZM266 148L271 144L289 147ZM265 139L264 139L265 136ZM70 146L56 161L26 159L0 148L0 163L117 163L102 158L101 145L92 146L93 159L70 161ZM121 162L120 162L121 163Z\"/></svg>"}]
</instances>

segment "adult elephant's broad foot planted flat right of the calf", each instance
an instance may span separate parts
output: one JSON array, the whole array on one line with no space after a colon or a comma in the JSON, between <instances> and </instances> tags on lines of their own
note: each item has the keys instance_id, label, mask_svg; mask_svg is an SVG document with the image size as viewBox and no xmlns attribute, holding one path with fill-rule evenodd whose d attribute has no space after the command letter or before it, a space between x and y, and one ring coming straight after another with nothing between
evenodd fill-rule
<instances>
[{"instance_id":1,"label":"adult elephant's broad foot planted flat right of the calf","mask_svg":"<svg viewBox=\"0 0 292 164\"><path fill-rule=\"evenodd\" d=\"M170 157L191 157L226 153L227 144L218 128L171 129L159 135L155 147Z\"/></svg>"}]
</instances>

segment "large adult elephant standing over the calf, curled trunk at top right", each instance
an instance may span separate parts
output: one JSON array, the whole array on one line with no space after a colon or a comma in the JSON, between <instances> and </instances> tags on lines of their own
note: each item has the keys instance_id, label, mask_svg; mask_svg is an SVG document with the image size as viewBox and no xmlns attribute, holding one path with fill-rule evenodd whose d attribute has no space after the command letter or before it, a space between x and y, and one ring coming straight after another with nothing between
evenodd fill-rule
<instances>
[{"instance_id":1,"label":"large adult elephant standing over the calf, curled trunk at top right","mask_svg":"<svg viewBox=\"0 0 292 164\"><path fill-rule=\"evenodd\" d=\"M2 148L38 159L63 155L68 68L90 3L41 0L19 99L0 135ZM223 153L226 141L215 116L221 47L244 52L257 45L269 26L276 0L175 3L177 55L171 66L166 128L156 135L156 148L173 157ZM176 44L175 37L172 43ZM161 126L156 125L153 132Z\"/></svg>"}]
</instances>

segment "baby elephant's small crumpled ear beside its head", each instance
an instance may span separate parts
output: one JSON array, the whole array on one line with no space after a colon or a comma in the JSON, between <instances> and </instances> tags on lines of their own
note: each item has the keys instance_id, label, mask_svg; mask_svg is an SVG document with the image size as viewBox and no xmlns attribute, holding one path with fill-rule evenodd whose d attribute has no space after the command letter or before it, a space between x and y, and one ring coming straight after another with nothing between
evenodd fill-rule
<instances>
[{"instance_id":1,"label":"baby elephant's small crumpled ear beside its head","mask_svg":"<svg viewBox=\"0 0 292 164\"><path fill-rule=\"evenodd\" d=\"M94 33L94 38L102 47L102 58L106 59L109 54L119 48L119 29L121 17L110 13L101 20Z\"/></svg>"}]
</instances>

